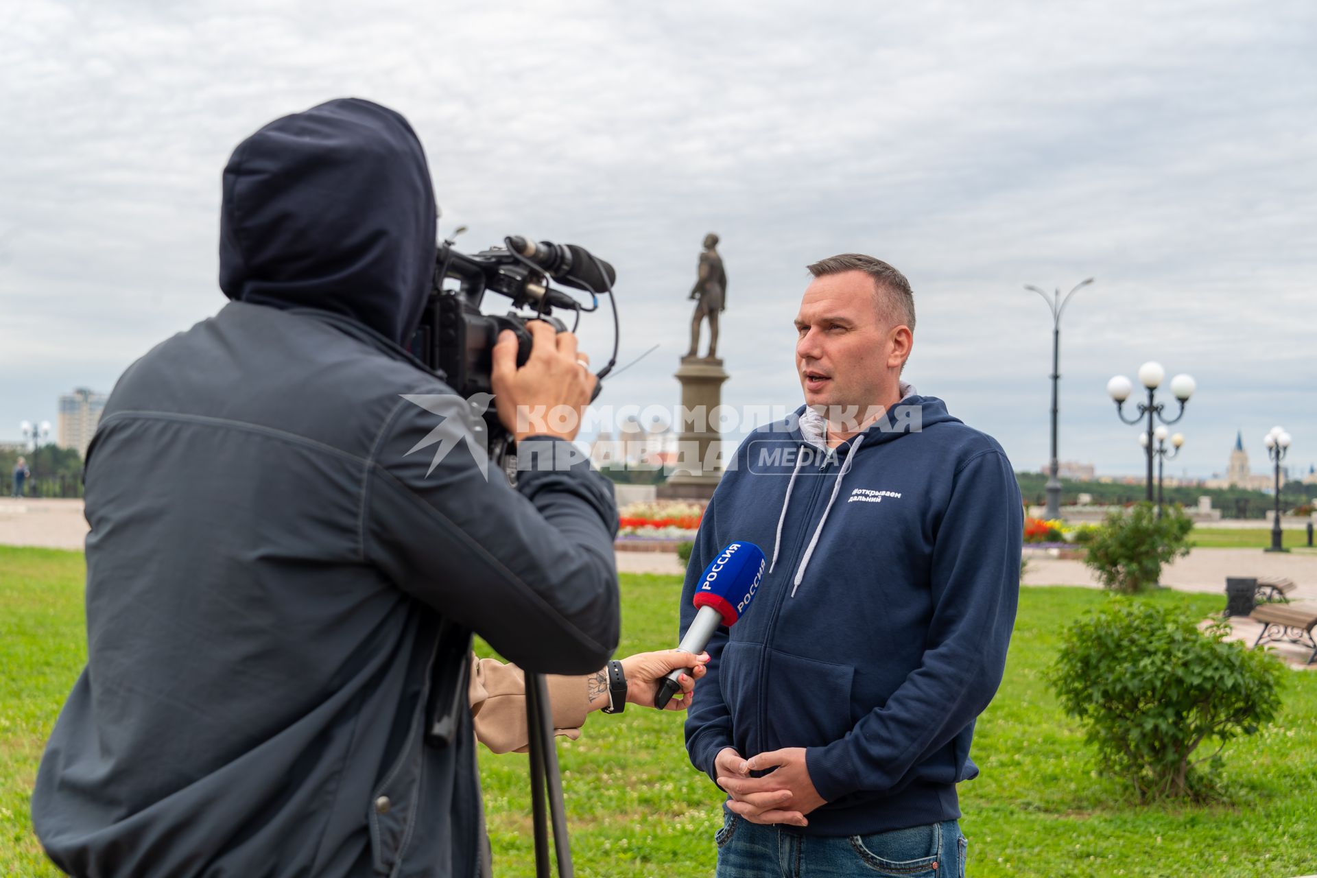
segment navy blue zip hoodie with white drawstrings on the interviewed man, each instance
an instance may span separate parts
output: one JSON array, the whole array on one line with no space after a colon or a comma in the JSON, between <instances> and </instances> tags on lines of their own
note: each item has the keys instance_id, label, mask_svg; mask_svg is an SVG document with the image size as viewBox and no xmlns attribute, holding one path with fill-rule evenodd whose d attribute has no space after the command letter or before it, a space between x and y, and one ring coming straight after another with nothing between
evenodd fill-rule
<instances>
[{"instance_id":1,"label":"navy blue zip hoodie with white drawstrings on the interviewed man","mask_svg":"<svg viewBox=\"0 0 1317 878\"><path fill-rule=\"evenodd\" d=\"M726 746L806 748L827 800L810 835L959 817L975 717L1006 662L1022 529L1006 454L940 399L907 396L831 453L805 407L752 433L705 512L681 631L723 545L753 542L770 569L709 645L691 762L716 779Z\"/></svg>"}]
</instances>

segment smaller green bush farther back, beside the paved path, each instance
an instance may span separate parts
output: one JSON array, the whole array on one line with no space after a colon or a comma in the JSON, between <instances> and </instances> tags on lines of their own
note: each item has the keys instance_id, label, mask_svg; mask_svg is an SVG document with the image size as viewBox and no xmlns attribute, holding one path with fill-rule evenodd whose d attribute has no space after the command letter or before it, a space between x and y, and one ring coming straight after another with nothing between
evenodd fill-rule
<instances>
[{"instance_id":1,"label":"smaller green bush farther back, beside the paved path","mask_svg":"<svg viewBox=\"0 0 1317 878\"><path fill-rule=\"evenodd\" d=\"M1084 563L1102 586L1134 594L1158 583L1162 566L1189 554L1193 520L1180 507L1167 505L1160 521L1151 503L1139 503L1127 516L1113 512L1088 541Z\"/></svg>"}]
</instances>

